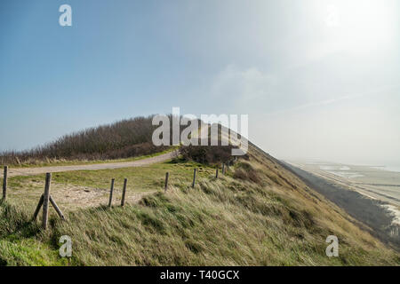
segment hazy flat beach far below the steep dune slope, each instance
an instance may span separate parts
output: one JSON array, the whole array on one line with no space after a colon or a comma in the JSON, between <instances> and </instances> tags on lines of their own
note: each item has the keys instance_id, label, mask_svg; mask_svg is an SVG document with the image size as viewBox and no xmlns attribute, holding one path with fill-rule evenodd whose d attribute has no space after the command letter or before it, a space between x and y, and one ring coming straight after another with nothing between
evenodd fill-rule
<instances>
[{"instance_id":1,"label":"hazy flat beach far below the steep dune slope","mask_svg":"<svg viewBox=\"0 0 400 284\"><path fill-rule=\"evenodd\" d=\"M285 161L295 174L400 249L400 172L321 161Z\"/></svg>"}]
</instances>

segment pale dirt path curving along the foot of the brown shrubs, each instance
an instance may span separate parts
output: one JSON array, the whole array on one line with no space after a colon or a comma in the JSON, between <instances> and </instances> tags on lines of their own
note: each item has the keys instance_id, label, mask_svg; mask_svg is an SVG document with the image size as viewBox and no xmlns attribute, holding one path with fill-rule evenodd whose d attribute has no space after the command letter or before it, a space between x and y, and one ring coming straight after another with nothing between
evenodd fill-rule
<instances>
[{"instance_id":1,"label":"pale dirt path curving along the foot of the brown shrubs","mask_svg":"<svg viewBox=\"0 0 400 284\"><path fill-rule=\"evenodd\" d=\"M54 167L41 167L41 168L9 169L8 176L9 177L33 176L33 175L44 174L47 172L62 172L62 171L72 171L72 170L113 170L121 168L142 167L151 165L156 162L168 161L172 159L174 155L175 152L171 152L133 162L108 162L108 163L97 163L97 164L76 165L76 166L54 166Z\"/></svg>"}]
</instances>

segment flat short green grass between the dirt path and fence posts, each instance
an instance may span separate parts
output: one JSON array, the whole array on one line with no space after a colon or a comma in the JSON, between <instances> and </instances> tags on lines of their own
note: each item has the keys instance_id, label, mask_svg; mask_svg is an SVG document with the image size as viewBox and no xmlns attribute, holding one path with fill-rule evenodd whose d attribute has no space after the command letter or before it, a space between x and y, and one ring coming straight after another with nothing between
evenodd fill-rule
<instances>
[{"instance_id":1,"label":"flat short green grass between the dirt path and fence posts","mask_svg":"<svg viewBox=\"0 0 400 284\"><path fill-rule=\"evenodd\" d=\"M128 178L127 194L151 193L164 191L165 173L170 174L169 181L173 185L191 185L193 170L197 169L196 177L212 177L215 170L196 162L163 162L146 167L122 168L116 170L79 170L52 174L52 195L62 205L63 210L69 210L68 189L76 190L74 194L84 191L99 193L100 204L107 204L111 179L115 178L115 201L121 198L124 178ZM40 195L44 192L45 175L19 176L9 178L7 199L18 201L24 207L34 210ZM23 198L21 198L23 197ZM74 205L74 204L72 204ZM92 204L93 205L93 204ZM75 207L73 207L75 209Z\"/></svg>"}]
</instances>

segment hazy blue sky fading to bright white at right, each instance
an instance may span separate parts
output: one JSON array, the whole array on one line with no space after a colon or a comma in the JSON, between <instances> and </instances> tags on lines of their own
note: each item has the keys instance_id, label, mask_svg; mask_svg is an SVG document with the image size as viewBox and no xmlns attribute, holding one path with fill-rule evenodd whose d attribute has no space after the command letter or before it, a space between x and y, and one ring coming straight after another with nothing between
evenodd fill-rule
<instances>
[{"instance_id":1,"label":"hazy blue sky fading to bright white at right","mask_svg":"<svg viewBox=\"0 0 400 284\"><path fill-rule=\"evenodd\" d=\"M179 106L277 158L399 164L399 27L396 0L2 0L0 150Z\"/></svg>"}]
</instances>

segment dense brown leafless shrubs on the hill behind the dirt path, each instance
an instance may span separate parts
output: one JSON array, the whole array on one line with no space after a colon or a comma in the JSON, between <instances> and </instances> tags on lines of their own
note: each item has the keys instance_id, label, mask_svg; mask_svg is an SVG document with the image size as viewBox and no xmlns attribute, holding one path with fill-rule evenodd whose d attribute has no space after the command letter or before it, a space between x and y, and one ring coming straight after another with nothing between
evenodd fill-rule
<instances>
[{"instance_id":1,"label":"dense brown leafless shrubs on the hill behind the dirt path","mask_svg":"<svg viewBox=\"0 0 400 284\"><path fill-rule=\"evenodd\" d=\"M164 151L151 138L153 116L136 117L65 135L28 151L0 154L0 164L29 164L71 160L125 159Z\"/></svg>"}]
</instances>

